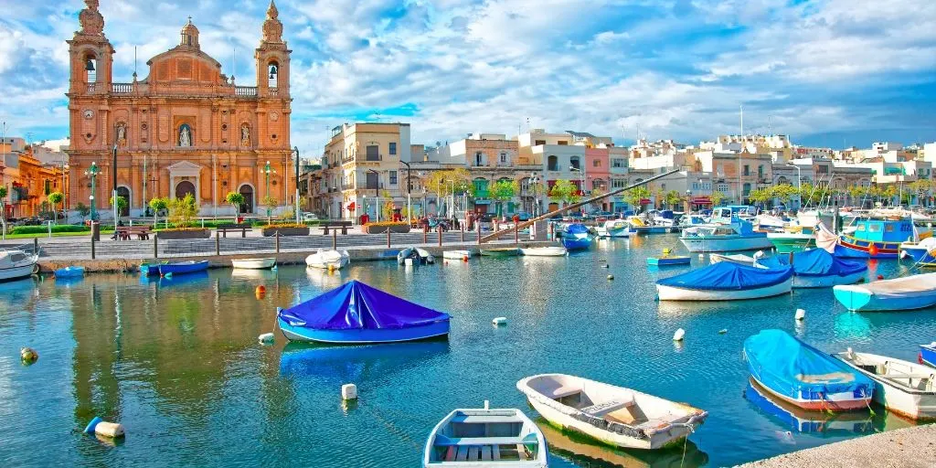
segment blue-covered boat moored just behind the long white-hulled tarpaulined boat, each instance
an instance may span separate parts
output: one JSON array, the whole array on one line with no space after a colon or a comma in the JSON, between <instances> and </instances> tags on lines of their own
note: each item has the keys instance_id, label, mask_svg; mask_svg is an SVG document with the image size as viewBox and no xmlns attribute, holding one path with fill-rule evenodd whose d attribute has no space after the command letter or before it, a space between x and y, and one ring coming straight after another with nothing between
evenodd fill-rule
<instances>
[{"instance_id":1,"label":"blue-covered boat moored just behind the long white-hulled tarpaulined boat","mask_svg":"<svg viewBox=\"0 0 936 468\"><path fill-rule=\"evenodd\" d=\"M790 258L792 257L792 263ZM793 267L793 287L832 287L853 285L868 274L868 265L843 260L823 249L810 249L789 256L770 256L757 260L768 268Z\"/></svg>"}]
</instances>

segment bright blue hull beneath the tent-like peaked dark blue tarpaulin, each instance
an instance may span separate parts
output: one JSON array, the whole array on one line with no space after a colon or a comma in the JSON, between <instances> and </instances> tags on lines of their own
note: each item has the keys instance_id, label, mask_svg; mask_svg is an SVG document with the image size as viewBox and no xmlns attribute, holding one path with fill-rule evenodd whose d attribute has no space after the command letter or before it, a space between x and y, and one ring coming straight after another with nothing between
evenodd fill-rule
<instances>
[{"instance_id":1,"label":"bright blue hull beneath the tent-like peaked dark blue tarpaulin","mask_svg":"<svg viewBox=\"0 0 936 468\"><path fill-rule=\"evenodd\" d=\"M292 342L329 344L376 344L426 340L448 334L448 320L402 329L307 329L292 326L277 317L280 331Z\"/></svg>"}]
</instances>

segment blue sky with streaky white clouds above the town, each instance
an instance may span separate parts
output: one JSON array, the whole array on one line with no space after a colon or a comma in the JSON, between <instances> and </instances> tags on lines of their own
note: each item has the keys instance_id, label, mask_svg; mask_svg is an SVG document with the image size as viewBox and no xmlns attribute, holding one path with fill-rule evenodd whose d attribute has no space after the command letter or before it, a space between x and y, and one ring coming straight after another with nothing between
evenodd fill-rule
<instances>
[{"instance_id":1,"label":"blue sky with streaky white clouds above the town","mask_svg":"<svg viewBox=\"0 0 936 468\"><path fill-rule=\"evenodd\" d=\"M253 85L269 0L100 0L129 82L192 16ZM812 146L936 140L933 0L277 0L292 49L292 143L403 122L413 142L528 128L695 144L740 131ZM82 0L0 0L7 135L68 133L66 39ZM235 50L237 51L235 54Z\"/></svg>"}]
</instances>

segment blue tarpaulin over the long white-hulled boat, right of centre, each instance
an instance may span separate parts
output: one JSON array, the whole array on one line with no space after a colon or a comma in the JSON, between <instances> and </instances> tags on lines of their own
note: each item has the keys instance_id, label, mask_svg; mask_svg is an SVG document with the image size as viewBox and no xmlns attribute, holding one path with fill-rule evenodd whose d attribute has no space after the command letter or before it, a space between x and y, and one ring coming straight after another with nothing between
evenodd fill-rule
<instances>
[{"instance_id":1,"label":"blue tarpaulin over the long white-hulled boat, right of centre","mask_svg":"<svg viewBox=\"0 0 936 468\"><path fill-rule=\"evenodd\" d=\"M754 268L732 262L718 262L698 270L664 278L657 285L715 291L743 291L779 285L793 276L793 269Z\"/></svg>"}]
</instances>

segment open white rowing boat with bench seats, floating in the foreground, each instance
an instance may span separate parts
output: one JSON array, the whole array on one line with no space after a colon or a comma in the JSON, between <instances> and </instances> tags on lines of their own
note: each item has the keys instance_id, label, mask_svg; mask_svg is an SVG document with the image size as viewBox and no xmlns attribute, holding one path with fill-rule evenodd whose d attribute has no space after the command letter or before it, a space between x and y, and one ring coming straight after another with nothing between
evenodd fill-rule
<instances>
[{"instance_id":1,"label":"open white rowing boat with bench seats, floating in the foreground","mask_svg":"<svg viewBox=\"0 0 936 468\"><path fill-rule=\"evenodd\" d=\"M563 373L526 377L517 388L551 424L623 448L675 445L709 417L684 403Z\"/></svg>"}]
</instances>

